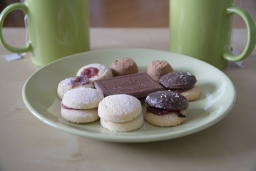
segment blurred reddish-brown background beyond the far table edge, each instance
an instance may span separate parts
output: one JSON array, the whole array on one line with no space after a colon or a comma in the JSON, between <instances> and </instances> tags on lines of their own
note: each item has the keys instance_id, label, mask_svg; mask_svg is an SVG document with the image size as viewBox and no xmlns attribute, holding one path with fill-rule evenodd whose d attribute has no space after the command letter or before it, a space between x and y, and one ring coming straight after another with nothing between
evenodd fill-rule
<instances>
[{"instance_id":1,"label":"blurred reddish-brown background beyond the far table edge","mask_svg":"<svg viewBox=\"0 0 256 171\"><path fill-rule=\"evenodd\" d=\"M42 0L43 1L43 0ZM0 11L19 0L0 0ZM91 27L168 27L169 0L90 0ZM248 11L256 20L256 0L237 0L235 6ZM240 16L234 27L245 28ZM24 27L22 11L12 11L5 27Z\"/></svg>"}]
</instances>

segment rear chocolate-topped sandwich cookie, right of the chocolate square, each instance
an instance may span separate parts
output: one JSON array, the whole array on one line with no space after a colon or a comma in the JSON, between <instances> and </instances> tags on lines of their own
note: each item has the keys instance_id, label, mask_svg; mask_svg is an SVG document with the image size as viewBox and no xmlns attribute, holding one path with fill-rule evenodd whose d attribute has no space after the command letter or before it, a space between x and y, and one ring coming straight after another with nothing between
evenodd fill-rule
<instances>
[{"instance_id":1,"label":"rear chocolate-topped sandwich cookie, right of the chocolate square","mask_svg":"<svg viewBox=\"0 0 256 171\"><path fill-rule=\"evenodd\" d=\"M159 83L168 90L180 93L189 101L196 100L200 96L200 88L195 85L197 79L188 72L173 72L161 77Z\"/></svg>"}]
</instances>

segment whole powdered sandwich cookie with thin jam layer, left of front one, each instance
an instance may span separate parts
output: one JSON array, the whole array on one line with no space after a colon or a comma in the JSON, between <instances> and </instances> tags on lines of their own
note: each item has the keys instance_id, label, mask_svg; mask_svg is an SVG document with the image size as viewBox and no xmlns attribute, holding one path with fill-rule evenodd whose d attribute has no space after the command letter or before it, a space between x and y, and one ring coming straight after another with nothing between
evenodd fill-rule
<instances>
[{"instance_id":1,"label":"whole powdered sandwich cookie with thin jam layer, left of front one","mask_svg":"<svg viewBox=\"0 0 256 171\"><path fill-rule=\"evenodd\" d=\"M72 123L91 123L98 120L98 103L103 94L93 88L68 90L61 101L61 117Z\"/></svg>"}]
</instances>

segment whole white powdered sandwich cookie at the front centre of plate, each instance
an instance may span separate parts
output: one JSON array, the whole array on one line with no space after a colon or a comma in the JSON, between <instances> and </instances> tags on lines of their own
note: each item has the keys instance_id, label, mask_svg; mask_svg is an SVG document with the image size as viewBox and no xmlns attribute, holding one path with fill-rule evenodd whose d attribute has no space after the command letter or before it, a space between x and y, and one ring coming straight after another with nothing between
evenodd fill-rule
<instances>
[{"instance_id":1,"label":"whole white powdered sandwich cookie at the front centre of plate","mask_svg":"<svg viewBox=\"0 0 256 171\"><path fill-rule=\"evenodd\" d=\"M104 128L117 132L135 130L143 125L140 100L132 95L109 95L103 98L98 104L98 116Z\"/></svg>"}]
</instances>

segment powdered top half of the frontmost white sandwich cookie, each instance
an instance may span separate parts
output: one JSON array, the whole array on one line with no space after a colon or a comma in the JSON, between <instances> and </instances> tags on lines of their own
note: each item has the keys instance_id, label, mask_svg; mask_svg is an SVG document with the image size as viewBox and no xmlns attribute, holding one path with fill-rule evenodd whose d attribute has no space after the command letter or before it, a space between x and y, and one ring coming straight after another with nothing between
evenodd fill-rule
<instances>
[{"instance_id":1,"label":"powdered top half of the frontmost white sandwich cookie","mask_svg":"<svg viewBox=\"0 0 256 171\"><path fill-rule=\"evenodd\" d=\"M141 112L140 100L132 95L109 95L98 104L98 116L115 123L133 120Z\"/></svg>"}]
</instances>

